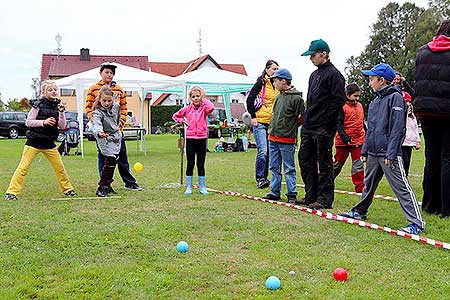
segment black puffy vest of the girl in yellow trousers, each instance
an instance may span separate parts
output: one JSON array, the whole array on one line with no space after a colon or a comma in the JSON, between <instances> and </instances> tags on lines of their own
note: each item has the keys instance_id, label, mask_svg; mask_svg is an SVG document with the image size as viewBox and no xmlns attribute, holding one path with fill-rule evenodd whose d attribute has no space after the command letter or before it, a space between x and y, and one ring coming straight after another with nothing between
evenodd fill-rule
<instances>
[{"instance_id":1,"label":"black puffy vest of the girl in yellow trousers","mask_svg":"<svg viewBox=\"0 0 450 300\"><path fill-rule=\"evenodd\" d=\"M44 125L44 127L28 127L28 141L26 143L27 145L41 149L50 149L56 146L55 141L59 133L59 102L60 100L52 101L47 98L41 98L33 103L33 107L39 109L36 120L45 120L47 118L53 117L56 120L56 125Z\"/></svg>"}]
</instances>

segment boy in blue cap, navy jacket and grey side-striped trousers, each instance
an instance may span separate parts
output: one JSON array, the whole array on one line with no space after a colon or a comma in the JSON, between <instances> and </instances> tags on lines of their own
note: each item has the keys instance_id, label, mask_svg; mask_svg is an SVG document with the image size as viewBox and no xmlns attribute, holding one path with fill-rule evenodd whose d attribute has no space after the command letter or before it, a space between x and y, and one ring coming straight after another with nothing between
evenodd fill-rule
<instances>
[{"instance_id":1,"label":"boy in blue cap, navy jacket and grey side-striped trousers","mask_svg":"<svg viewBox=\"0 0 450 300\"><path fill-rule=\"evenodd\" d=\"M425 221L403 167L407 109L401 91L391 85L395 72L388 64L378 64L362 74L369 77L369 86L376 94L369 105L367 135L361 151L361 160L366 163L365 187L361 201L341 216L364 220L384 174L411 223L400 230L419 234L425 230Z\"/></svg>"}]
</instances>

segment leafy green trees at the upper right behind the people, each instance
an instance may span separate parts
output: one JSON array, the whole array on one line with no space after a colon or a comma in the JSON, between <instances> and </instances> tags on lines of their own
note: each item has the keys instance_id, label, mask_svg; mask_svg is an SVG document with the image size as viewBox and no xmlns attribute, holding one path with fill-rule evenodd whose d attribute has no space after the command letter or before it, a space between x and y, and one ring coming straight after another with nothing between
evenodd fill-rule
<instances>
[{"instance_id":1,"label":"leafy green trees at the upper right behind the people","mask_svg":"<svg viewBox=\"0 0 450 300\"><path fill-rule=\"evenodd\" d=\"M430 0L427 9L410 2L391 2L382 8L371 26L369 44L359 56L351 56L345 63L348 82L361 87L361 102L367 104L373 98L361 70L379 63L391 65L414 86L417 51L432 40L439 24L449 18L450 0Z\"/></svg>"}]
</instances>

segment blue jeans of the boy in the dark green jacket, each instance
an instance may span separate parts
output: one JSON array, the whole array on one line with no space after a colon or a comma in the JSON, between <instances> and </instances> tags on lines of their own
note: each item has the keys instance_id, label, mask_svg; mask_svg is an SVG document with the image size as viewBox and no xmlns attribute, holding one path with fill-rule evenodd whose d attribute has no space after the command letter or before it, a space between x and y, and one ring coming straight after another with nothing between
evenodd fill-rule
<instances>
[{"instance_id":1,"label":"blue jeans of the boy in the dark green jacket","mask_svg":"<svg viewBox=\"0 0 450 300\"><path fill-rule=\"evenodd\" d=\"M295 170L295 145L282 144L269 141L270 163L272 173L270 179L270 193L275 196L281 194L281 163L283 163L284 177L286 179L286 196L297 197L296 170Z\"/></svg>"}]
</instances>

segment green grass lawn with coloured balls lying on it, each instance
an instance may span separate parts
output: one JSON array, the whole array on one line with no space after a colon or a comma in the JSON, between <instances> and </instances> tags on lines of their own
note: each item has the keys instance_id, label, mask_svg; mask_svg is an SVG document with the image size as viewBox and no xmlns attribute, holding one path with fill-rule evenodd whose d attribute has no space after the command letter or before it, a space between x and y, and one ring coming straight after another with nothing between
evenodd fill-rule
<instances>
[{"instance_id":1,"label":"green grass lawn with coloured balls lying on it","mask_svg":"<svg viewBox=\"0 0 450 300\"><path fill-rule=\"evenodd\" d=\"M0 206L0 299L444 299L450 294L450 251L380 231L328 221L268 203L218 194L185 196L161 186L179 181L177 136L151 136L147 156L128 142L143 192L122 198L61 198L47 160L38 157L18 201ZM0 139L0 189L5 191L25 140ZM210 141L212 145L213 140ZM210 147L211 149L212 147ZM94 196L97 154L64 157L80 197ZM73 150L72 150L73 152ZM208 186L262 196L254 182L256 150L208 153ZM423 151L410 173L422 174ZM420 176L411 182L421 199ZM301 182L298 172L297 179ZM352 190L350 166L336 188ZM283 187L285 189L285 187ZM299 189L299 196L303 191ZM392 195L385 181L378 194ZM331 212L356 203L336 194ZM398 203L375 200L368 221L406 225ZM450 242L448 219L425 215L425 236ZM189 243L187 253L176 244ZM335 268L347 282L335 282ZM289 271L294 270L295 276ZM268 276L281 289L265 288Z\"/></svg>"}]
</instances>

